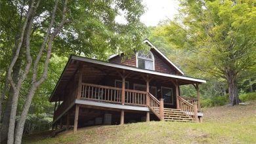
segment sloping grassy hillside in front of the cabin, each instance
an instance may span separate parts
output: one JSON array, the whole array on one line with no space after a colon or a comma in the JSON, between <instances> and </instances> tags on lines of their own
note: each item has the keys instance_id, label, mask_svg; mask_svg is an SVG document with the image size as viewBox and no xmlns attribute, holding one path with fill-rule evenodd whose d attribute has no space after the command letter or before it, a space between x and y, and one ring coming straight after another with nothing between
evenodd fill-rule
<instances>
[{"instance_id":1,"label":"sloping grassy hillside in front of the cabin","mask_svg":"<svg viewBox=\"0 0 256 144\"><path fill-rule=\"evenodd\" d=\"M140 122L27 135L24 143L256 143L256 101L203 109L203 123Z\"/></svg>"}]
</instances>

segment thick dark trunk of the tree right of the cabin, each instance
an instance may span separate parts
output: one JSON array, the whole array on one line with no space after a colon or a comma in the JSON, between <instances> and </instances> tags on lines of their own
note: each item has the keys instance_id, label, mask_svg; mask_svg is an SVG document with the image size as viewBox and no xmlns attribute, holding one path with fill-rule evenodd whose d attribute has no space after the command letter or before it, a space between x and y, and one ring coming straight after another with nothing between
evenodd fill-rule
<instances>
[{"instance_id":1,"label":"thick dark trunk of the tree right of the cabin","mask_svg":"<svg viewBox=\"0 0 256 144\"><path fill-rule=\"evenodd\" d=\"M238 98L236 73L228 69L228 71L226 71L226 80L228 81L229 103L230 105L238 105L240 99Z\"/></svg>"}]
</instances>

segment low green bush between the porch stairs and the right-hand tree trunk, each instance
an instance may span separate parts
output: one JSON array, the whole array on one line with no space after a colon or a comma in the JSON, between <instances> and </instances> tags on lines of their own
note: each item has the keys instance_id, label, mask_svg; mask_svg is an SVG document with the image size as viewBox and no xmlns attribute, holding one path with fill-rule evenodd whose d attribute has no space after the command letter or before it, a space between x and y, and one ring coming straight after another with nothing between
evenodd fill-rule
<instances>
[{"instance_id":1,"label":"low green bush between the porch stairs and the right-hand tree trunk","mask_svg":"<svg viewBox=\"0 0 256 144\"><path fill-rule=\"evenodd\" d=\"M228 96L215 96L213 98L201 99L201 107L215 107L226 105L228 103Z\"/></svg>"}]
</instances>

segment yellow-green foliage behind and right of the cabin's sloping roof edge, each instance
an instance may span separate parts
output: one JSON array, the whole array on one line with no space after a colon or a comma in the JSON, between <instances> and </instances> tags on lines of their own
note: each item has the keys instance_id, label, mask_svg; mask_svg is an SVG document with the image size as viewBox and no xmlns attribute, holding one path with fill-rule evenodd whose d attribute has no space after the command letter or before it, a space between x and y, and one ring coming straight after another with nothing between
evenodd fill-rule
<instances>
[{"instance_id":1,"label":"yellow-green foliage behind and right of the cabin's sloping roof edge","mask_svg":"<svg viewBox=\"0 0 256 144\"><path fill-rule=\"evenodd\" d=\"M255 2L180 2L181 9L175 20L153 28L151 33L154 41L164 43L161 46L165 51L173 52L168 54L170 60L181 65L185 75L209 79L213 85L206 84L208 88L204 88L203 95L208 98L223 95L227 86L236 89L238 84L255 79ZM190 94L187 89L183 90L183 94ZM237 99L236 94L234 90L230 98Z\"/></svg>"}]
</instances>

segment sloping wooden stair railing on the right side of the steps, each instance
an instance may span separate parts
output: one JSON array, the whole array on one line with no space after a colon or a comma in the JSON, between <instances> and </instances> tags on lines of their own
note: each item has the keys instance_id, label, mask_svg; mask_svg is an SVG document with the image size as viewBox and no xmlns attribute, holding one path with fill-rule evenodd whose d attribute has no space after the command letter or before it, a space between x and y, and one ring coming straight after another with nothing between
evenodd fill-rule
<instances>
[{"instance_id":1,"label":"sloping wooden stair railing on the right side of the steps","mask_svg":"<svg viewBox=\"0 0 256 144\"><path fill-rule=\"evenodd\" d=\"M178 96L177 101L179 103L179 109L184 111L184 113L189 115L194 120L196 120L196 121L198 120L198 107L197 107L197 103L193 103L192 104L192 103L186 101L186 99L181 98L180 96Z\"/></svg>"}]
</instances>

